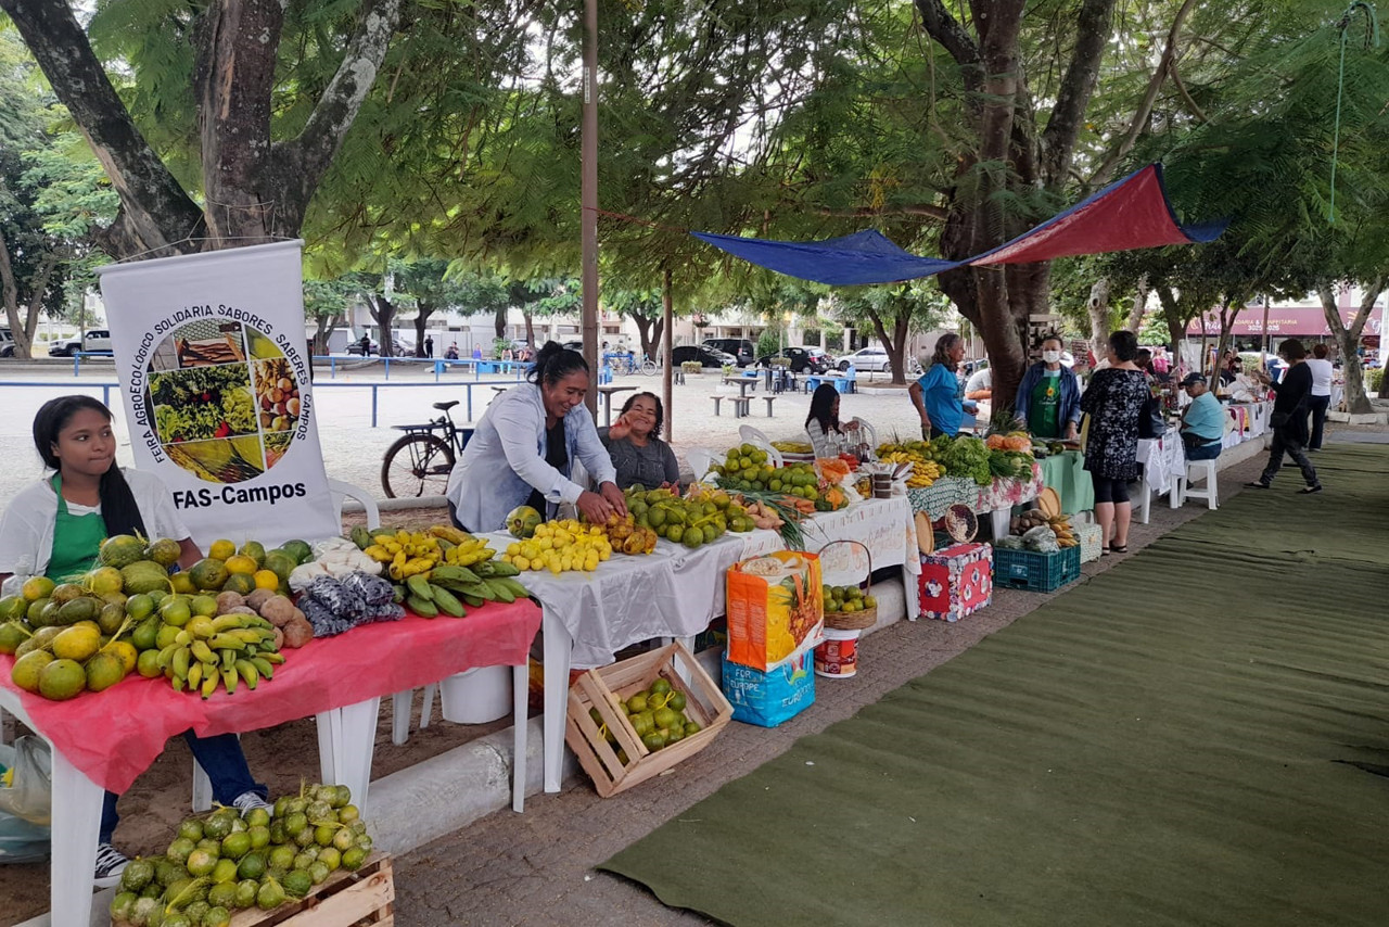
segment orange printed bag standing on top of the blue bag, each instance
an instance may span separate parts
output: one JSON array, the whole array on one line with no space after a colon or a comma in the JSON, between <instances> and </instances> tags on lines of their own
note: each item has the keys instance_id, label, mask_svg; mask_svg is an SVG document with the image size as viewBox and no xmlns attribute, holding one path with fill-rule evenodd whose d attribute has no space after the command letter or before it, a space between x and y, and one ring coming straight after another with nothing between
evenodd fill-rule
<instances>
[{"instance_id":1,"label":"orange printed bag standing on top of the blue bag","mask_svg":"<svg viewBox=\"0 0 1389 927\"><path fill-rule=\"evenodd\" d=\"M728 568L728 659L767 673L820 639L820 557L775 550Z\"/></svg>"}]
</instances>

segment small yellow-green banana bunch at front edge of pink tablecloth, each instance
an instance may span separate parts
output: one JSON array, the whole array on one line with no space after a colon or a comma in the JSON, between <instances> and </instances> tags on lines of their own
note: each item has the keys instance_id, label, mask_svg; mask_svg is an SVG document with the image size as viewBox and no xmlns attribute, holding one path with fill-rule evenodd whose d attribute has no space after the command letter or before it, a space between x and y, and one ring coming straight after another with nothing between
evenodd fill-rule
<instances>
[{"instance_id":1,"label":"small yellow-green banana bunch at front edge of pink tablecloth","mask_svg":"<svg viewBox=\"0 0 1389 927\"><path fill-rule=\"evenodd\" d=\"M275 649L275 625L254 614L197 616L156 657L175 692L211 698L218 684L235 695L244 682L254 689L275 675L285 657Z\"/></svg>"}]
</instances>

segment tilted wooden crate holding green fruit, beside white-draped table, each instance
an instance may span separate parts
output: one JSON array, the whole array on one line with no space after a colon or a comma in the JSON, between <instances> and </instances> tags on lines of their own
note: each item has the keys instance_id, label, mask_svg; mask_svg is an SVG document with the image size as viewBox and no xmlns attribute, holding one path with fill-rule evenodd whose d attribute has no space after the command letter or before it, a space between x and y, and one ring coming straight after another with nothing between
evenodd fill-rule
<instances>
[{"instance_id":1,"label":"tilted wooden crate holding green fruit, beside white-draped table","mask_svg":"<svg viewBox=\"0 0 1389 927\"><path fill-rule=\"evenodd\" d=\"M689 677L686 682L681 673ZM685 714L700 725L700 732L671 746L651 752L636 735L636 728L618 707L618 700L649 688L657 677L665 678L672 691L685 695ZM617 745L599 734L599 725L589 714L596 707L603 723L617 737ZM564 742L579 757L579 764L593 778L599 795L608 798L660 776L681 760L708 746L733 717L733 706L714 685L714 680L676 641L658 650L589 670L569 688L569 710L564 725ZM628 763L617 759L617 748L626 750Z\"/></svg>"}]
</instances>

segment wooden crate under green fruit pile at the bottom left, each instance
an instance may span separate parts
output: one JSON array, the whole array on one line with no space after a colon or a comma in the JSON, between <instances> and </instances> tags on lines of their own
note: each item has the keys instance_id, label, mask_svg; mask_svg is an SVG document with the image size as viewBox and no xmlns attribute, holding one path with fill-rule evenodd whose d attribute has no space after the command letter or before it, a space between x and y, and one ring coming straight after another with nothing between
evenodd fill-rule
<instances>
[{"instance_id":1,"label":"wooden crate under green fruit pile at the bottom left","mask_svg":"<svg viewBox=\"0 0 1389 927\"><path fill-rule=\"evenodd\" d=\"M232 914L232 927L356 927L396 923L392 905L396 884L390 856L372 853L356 873L338 870L322 885L299 901L289 901L275 910L249 908ZM113 921L125 927L125 921Z\"/></svg>"}]
</instances>

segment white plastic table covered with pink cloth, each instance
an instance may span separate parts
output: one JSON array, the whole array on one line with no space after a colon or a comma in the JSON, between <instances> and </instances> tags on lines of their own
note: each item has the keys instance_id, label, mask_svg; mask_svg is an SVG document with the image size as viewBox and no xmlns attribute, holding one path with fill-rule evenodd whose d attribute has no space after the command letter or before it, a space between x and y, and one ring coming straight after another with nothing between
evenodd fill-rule
<instances>
[{"instance_id":1,"label":"white plastic table covered with pink cloth","mask_svg":"<svg viewBox=\"0 0 1389 927\"><path fill-rule=\"evenodd\" d=\"M124 792L164 750L193 730L238 734L318 717L325 781L351 789L365 812L382 695L438 682L482 666L513 666L515 766L513 807L525 795L525 703L531 641L540 627L529 600L474 609L461 621L410 616L368 624L286 653L275 678L210 699L175 692L163 678L131 675L68 702L50 702L10 681L14 659L0 656L0 709L53 746L51 921L86 924L92 894L74 891L74 873L96 864L101 791ZM81 881L81 880L79 880Z\"/></svg>"}]
</instances>

